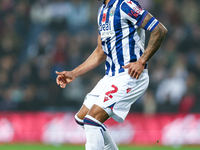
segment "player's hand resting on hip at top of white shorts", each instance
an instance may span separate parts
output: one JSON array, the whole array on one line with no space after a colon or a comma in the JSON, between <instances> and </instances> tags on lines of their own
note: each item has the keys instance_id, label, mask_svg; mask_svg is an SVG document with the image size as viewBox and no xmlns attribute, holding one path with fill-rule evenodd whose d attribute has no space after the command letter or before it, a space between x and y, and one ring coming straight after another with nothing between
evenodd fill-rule
<instances>
[{"instance_id":1,"label":"player's hand resting on hip at top of white shorts","mask_svg":"<svg viewBox=\"0 0 200 150\"><path fill-rule=\"evenodd\" d=\"M128 74L136 79L139 79L141 73L144 70L145 65L140 62L140 61L136 61L136 62L131 62L126 66L122 66L124 69L128 69Z\"/></svg>"}]
</instances>

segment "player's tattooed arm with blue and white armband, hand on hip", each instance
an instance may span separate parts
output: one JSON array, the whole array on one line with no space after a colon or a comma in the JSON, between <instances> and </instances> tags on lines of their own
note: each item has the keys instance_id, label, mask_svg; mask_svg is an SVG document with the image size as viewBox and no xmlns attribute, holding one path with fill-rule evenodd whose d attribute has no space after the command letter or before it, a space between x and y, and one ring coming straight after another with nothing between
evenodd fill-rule
<instances>
[{"instance_id":1,"label":"player's tattooed arm with blue and white armband, hand on hip","mask_svg":"<svg viewBox=\"0 0 200 150\"><path fill-rule=\"evenodd\" d=\"M139 78L140 74L144 70L146 62L158 50L168 32L165 26L158 22L150 13L146 15L140 27L151 32L148 45L137 62L129 63L123 67L128 68L130 76L136 79Z\"/></svg>"}]
</instances>

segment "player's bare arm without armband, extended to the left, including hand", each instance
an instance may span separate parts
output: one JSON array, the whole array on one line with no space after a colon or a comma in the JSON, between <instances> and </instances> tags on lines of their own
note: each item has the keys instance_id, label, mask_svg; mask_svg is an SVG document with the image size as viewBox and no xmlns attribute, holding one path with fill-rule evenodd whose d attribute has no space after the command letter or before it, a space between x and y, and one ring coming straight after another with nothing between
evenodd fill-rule
<instances>
[{"instance_id":1,"label":"player's bare arm without armband, extended to the left, including hand","mask_svg":"<svg viewBox=\"0 0 200 150\"><path fill-rule=\"evenodd\" d=\"M76 77L94 69L106 60L106 54L103 52L101 45L101 36L98 36L98 45L88 59L72 71L57 72L56 83L61 88L65 88L68 83L75 80Z\"/></svg>"}]
</instances>

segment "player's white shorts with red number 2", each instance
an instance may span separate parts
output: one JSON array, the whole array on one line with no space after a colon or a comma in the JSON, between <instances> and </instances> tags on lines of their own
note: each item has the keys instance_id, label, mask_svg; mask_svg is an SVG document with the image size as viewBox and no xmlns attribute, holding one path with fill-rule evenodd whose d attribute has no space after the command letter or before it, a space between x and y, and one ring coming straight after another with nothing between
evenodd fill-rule
<instances>
[{"instance_id":1,"label":"player's white shorts with red number 2","mask_svg":"<svg viewBox=\"0 0 200 150\"><path fill-rule=\"evenodd\" d=\"M88 109L96 104L114 120L123 122L131 105L145 92L148 85L147 69L144 69L138 80L130 77L127 72L116 76L105 75L86 95L83 104Z\"/></svg>"}]
</instances>

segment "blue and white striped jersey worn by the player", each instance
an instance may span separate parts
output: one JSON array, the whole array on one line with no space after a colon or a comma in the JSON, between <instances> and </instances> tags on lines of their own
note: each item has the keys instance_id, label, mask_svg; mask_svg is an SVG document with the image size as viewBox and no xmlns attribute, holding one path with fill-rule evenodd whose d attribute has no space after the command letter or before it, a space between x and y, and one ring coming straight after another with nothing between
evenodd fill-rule
<instances>
[{"instance_id":1,"label":"blue and white striped jersey worn by the player","mask_svg":"<svg viewBox=\"0 0 200 150\"><path fill-rule=\"evenodd\" d=\"M135 0L110 0L100 7L98 27L107 55L107 75L124 72L122 66L137 61L143 54L145 30L140 26L147 14Z\"/></svg>"}]
</instances>

